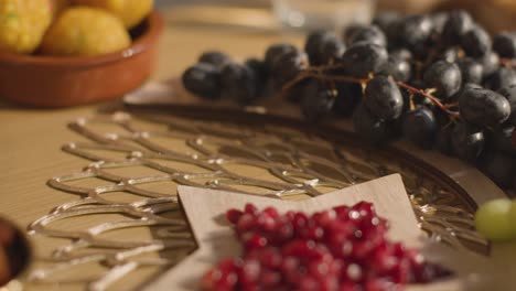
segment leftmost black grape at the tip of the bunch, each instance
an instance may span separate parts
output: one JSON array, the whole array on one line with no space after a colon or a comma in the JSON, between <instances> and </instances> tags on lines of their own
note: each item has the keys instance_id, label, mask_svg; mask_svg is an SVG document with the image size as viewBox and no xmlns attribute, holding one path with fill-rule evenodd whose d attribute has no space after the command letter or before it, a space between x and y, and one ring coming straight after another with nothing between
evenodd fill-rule
<instances>
[{"instance_id":1,"label":"leftmost black grape at the tip of the bunch","mask_svg":"<svg viewBox=\"0 0 516 291\"><path fill-rule=\"evenodd\" d=\"M195 64L183 73L183 86L191 93L206 98L216 99L221 97L221 71L212 64Z\"/></svg>"}]
</instances>

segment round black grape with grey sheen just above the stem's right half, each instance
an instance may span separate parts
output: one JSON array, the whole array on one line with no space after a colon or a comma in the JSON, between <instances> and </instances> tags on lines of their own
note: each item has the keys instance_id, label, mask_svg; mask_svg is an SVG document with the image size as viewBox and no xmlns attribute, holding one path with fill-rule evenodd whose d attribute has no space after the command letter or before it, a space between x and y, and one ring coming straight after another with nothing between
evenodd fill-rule
<instances>
[{"instance_id":1,"label":"round black grape with grey sheen just above the stem's right half","mask_svg":"<svg viewBox=\"0 0 516 291\"><path fill-rule=\"evenodd\" d=\"M437 89L436 97L449 98L461 88L461 69L455 64L438 61L424 71L423 80L427 88Z\"/></svg>"}]
</instances>

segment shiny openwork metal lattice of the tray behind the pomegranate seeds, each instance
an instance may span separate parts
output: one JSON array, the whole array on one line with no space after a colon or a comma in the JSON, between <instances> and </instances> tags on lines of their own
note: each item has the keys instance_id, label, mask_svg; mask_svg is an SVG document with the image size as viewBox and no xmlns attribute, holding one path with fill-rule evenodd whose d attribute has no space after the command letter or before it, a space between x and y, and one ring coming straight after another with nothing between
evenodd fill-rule
<instances>
[{"instance_id":1,"label":"shiny openwork metal lattice of the tray behind the pomegranate seeds","mask_svg":"<svg viewBox=\"0 0 516 291\"><path fill-rule=\"evenodd\" d=\"M342 142L276 123L125 112L79 119L69 127L87 141L68 143L63 150L93 163L49 181L50 186L79 197L30 225L33 235L68 239L47 258L50 265L31 273L32 282L78 281L90 290L105 290L137 269L180 261L195 244L178 205L179 184L299 200L400 173L420 227L431 238L455 248L486 246L473 230L475 205L436 176L436 170L363 147L353 136ZM127 196L114 200L114 193ZM106 214L122 218L100 219L79 230L53 226ZM153 227L151 238L105 236L137 227ZM87 263L104 270L82 279L57 276Z\"/></svg>"}]
</instances>

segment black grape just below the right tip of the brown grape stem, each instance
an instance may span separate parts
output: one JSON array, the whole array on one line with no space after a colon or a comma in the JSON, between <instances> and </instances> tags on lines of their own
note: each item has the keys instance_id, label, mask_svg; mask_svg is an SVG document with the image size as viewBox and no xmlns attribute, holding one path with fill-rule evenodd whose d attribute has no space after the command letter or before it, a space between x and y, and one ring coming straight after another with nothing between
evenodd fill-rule
<instances>
[{"instance_id":1,"label":"black grape just below the right tip of the brown grape stem","mask_svg":"<svg viewBox=\"0 0 516 291\"><path fill-rule=\"evenodd\" d=\"M459 122L451 134L453 152L464 161L476 162L484 150L484 132L475 126Z\"/></svg>"}]
</instances>

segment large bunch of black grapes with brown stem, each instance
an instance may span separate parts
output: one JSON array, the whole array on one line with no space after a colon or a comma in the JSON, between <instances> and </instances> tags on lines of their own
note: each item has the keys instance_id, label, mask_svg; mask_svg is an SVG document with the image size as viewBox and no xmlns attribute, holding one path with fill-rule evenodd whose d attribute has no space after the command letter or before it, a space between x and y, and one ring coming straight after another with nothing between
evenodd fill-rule
<instances>
[{"instance_id":1,"label":"large bunch of black grapes with brown stem","mask_svg":"<svg viewBox=\"0 0 516 291\"><path fill-rule=\"evenodd\" d=\"M298 103L310 122L351 117L381 146L405 138L516 184L516 32L494 37L465 11L378 14L370 25L308 35L304 50L271 45L264 60L204 53L183 74L195 95L251 104L264 88Z\"/></svg>"}]
</instances>

